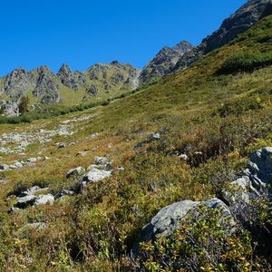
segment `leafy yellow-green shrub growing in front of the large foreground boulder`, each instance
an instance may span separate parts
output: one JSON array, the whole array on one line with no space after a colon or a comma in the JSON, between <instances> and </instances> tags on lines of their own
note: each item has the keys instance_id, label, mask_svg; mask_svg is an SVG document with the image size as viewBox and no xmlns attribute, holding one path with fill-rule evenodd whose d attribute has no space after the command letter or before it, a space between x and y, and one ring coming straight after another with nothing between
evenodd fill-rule
<instances>
[{"instance_id":1,"label":"leafy yellow-green shrub growing in front of the large foreground boulder","mask_svg":"<svg viewBox=\"0 0 272 272\"><path fill-rule=\"evenodd\" d=\"M232 232L220 209L199 207L169 238L141 244L144 271L249 271L248 232Z\"/></svg>"}]
</instances>

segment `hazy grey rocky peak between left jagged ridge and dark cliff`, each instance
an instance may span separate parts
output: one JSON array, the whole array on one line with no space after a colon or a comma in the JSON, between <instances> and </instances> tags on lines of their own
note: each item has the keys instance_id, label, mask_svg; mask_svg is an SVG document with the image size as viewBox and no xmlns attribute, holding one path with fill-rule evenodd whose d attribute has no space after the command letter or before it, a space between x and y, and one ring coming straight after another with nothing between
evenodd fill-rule
<instances>
[{"instance_id":1,"label":"hazy grey rocky peak between left jagged ridge and dark cliff","mask_svg":"<svg viewBox=\"0 0 272 272\"><path fill-rule=\"evenodd\" d=\"M180 57L193 48L192 44L186 41L174 47L163 47L159 53L141 71L140 83L151 83L161 76L170 73L179 61Z\"/></svg>"}]
</instances>

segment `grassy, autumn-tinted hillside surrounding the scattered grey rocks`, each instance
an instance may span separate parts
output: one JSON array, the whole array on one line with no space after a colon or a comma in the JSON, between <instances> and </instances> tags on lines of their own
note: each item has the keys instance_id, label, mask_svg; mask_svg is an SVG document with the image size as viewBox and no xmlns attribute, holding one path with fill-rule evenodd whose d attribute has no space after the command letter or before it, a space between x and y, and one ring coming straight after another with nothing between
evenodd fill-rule
<instances>
[{"instance_id":1,"label":"grassy, autumn-tinted hillside surrounding the scattered grey rocks","mask_svg":"<svg viewBox=\"0 0 272 272\"><path fill-rule=\"evenodd\" d=\"M272 67L267 62L271 29L269 16L188 70L107 106L31 124L1 125L1 134L33 135L67 121L74 132L34 141L21 154L1 154L7 164L42 158L32 166L0 172L0 180L6 180L0 183L3 270L129 271L132 243L158 210L181 199L219 196L231 173L245 168L251 151L272 145ZM233 58L238 53L265 57L244 71L236 63L240 59ZM222 69L226 66L227 71ZM160 141L147 141L156 132ZM65 148L57 148L60 141ZM189 160L180 160L175 152ZM66 179L67 170L87 168L94 156L104 155L124 171L53 206L7 213L17 189L73 189L76 180ZM44 222L46 228L25 229L34 222Z\"/></svg>"}]
</instances>

